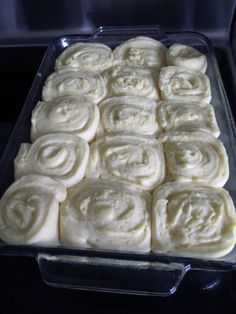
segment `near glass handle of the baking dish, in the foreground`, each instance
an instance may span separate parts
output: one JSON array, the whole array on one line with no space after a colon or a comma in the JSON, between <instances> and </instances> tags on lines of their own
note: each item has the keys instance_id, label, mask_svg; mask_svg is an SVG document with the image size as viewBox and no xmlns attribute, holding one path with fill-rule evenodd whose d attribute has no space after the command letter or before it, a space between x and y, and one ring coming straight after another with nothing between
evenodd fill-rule
<instances>
[{"instance_id":1,"label":"near glass handle of the baking dish, in the foreground","mask_svg":"<svg viewBox=\"0 0 236 314\"><path fill-rule=\"evenodd\" d=\"M189 266L112 258L37 256L44 282L51 286L138 295L169 296Z\"/></svg>"}]
</instances>

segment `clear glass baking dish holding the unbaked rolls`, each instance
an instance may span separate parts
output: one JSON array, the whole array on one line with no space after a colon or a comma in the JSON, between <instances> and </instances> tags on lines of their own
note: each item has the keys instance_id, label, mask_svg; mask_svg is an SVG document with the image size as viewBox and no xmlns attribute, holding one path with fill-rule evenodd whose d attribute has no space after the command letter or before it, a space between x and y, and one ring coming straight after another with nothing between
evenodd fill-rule
<instances>
[{"instance_id":1,"label":"clear glass baking dish holding the unbaked rolls","mask_svg":"<svg viewBox=\"0 0 236 314\"><path fill-rule=\"evenodd\" d=\"M0 161L0 195L14 181L14 158L20 143L30 142L31 112L41 98L46 77L57 56L76 42L99 42L111 48L135 36L149 36L169 46L175 42L196 47L207 56L216 118L229 157L230 177L225 188L236 205L236 132L210 41L194 32L165 34L158 26L100 27L93 35L72 35L56 39L49 47L36 74L15 129ZM191 270L230 271L236 268L236 247L220 259L177 257L170 254L127 253L79 249L65 246L14 246L1 242L0 253L27 255L38 261L43 280L52 286L95 291L168 296L174 293Z\"/></svg>"}]
</instances>

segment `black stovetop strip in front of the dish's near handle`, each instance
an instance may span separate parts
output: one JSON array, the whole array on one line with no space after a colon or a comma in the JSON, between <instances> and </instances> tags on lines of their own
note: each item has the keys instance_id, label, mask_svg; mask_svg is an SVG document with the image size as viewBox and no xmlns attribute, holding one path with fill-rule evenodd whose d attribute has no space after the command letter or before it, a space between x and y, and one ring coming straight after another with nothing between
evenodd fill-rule
<instances>
[{"instance_id":1,"label":"black stovetop strip in front of the dish's near handle","mask_svg":"<svg viewBox=\"0 0 236 314\"><path fill-rule=\"evenodd\" d=\"M47 286L33 258L1 256L0 313L236 313L236 272L216 275L209 289L191 277L167 298L69 290Z\"/></svg>"}]
</instances>

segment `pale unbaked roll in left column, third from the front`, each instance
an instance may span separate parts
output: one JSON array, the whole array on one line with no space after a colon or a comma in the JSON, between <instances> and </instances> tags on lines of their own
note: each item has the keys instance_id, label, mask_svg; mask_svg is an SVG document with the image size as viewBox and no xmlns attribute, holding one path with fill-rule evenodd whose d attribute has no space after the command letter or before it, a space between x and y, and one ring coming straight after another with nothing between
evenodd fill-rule
<instances>
[{"instance_id":1,"label":"pale unbaked roll in left column, third from the front","mask_svg":"<svg viewBox=\"0 0 236 314\"><path fill-rule=\"evenodd\" d=\"M97 130L100 112L84 96L64 96L51 101L39 101L31 118L31 139L48 133L75 134L91 141Z\"/></svg>"}]
</instances>

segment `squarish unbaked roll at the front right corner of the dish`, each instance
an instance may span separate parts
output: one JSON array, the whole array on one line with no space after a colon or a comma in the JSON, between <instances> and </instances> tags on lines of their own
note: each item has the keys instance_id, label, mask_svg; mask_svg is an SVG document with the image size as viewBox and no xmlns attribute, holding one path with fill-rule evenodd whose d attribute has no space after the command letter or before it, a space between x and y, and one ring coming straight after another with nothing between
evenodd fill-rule
<instances>
[{"instance_id":1,"label":"squarish unbaked roll at the front right corner of the dish","mask_svg":"<svg viewBox=\"0 0 236 314\"><path fill-rule=\"evenodd\" d=\"M153 251L219 258L228 254L235 242L235 208L226 190L168 183L154 191Z\"/></svg>"}]
</instances>

